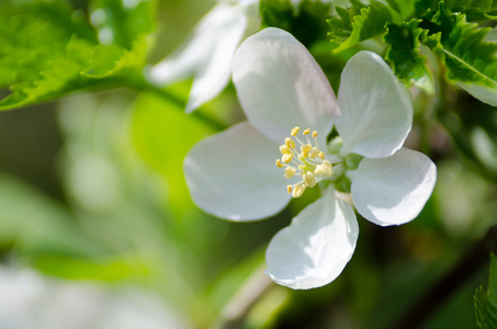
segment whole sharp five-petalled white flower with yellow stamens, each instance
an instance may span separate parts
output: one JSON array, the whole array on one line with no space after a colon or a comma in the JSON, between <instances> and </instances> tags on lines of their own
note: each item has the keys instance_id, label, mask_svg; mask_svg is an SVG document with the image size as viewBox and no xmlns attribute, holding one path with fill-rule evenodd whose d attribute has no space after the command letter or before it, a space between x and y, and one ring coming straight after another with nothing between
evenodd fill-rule
<instances>
[{"instance_id":1,"label":"whole sharp five-petalled white flower with yellow stamens","mask_svg":"<svg viewBox=\"0 0 497 329\"><path fill-rule=\"evenodd\" d=\"M266 259L274 282L323 286L350 260L359 227L352 207L337 198L336 185L350 188L358 212L377 225L405 224L420 213L436 167L402 147L411 127L411 102L380 56L361 52L349 60L337 103L307 49L270 27L241 44L233 80L248 122L200 141L187 156L184 172L196 205L222 218L252 220L274 215L314 185L325 190L270 242ZM327 145L334 124L340 136Z\"/></svg>"}]
</instances>

